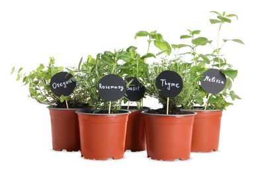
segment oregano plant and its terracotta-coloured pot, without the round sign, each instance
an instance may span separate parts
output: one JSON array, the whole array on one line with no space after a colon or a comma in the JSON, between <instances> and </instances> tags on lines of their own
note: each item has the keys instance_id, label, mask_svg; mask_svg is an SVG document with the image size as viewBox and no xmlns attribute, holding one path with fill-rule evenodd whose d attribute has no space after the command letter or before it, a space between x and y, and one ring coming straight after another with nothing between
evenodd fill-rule
<instances>
[{"instance_id":1,"label":"oregano plant and its terracotta-coloured pot, without the round sign","mask_svg":"<svg viewBox=\"0 0 256 171\"><path fill-rule=\"evenodd\" d=\"M15 72L12 68L11 74ZM52 77L57 73L67 73L63 66L55 66L54 57L50 57L47 67L40 64L36 70L29 74L22 73L22 68L17 71L17 81L28 85L30 97L38 103L47 105L50 111L52 128L52 148L56 151L79 151L79 126L75 110L87 107L87 97L81 92L84 87L75 87L68 96L55 95L50 87ZM71 70L69 70L71 72ZM55 84L54 84L55 86ZM56 83L57 86L57 83Z\"/></svg>"}]
</instances>

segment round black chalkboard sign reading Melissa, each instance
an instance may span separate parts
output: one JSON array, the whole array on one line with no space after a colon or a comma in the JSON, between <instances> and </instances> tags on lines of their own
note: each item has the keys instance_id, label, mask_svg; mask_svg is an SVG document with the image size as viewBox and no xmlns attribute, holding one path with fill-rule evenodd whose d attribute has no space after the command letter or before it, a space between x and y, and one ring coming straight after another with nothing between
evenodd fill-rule
<instances>
[{"instance_id":1,"label":"round black chalkboard sign reading Melissa","mask_svg":"<svg viewBox=\"0 0 256 171\"><path fill-rule=\"evenodd\" d=\"M202 75L201 86L207 93L220 93L226 86L226 76L218 69L210 69Z\"/></svg>"}]
</instances>

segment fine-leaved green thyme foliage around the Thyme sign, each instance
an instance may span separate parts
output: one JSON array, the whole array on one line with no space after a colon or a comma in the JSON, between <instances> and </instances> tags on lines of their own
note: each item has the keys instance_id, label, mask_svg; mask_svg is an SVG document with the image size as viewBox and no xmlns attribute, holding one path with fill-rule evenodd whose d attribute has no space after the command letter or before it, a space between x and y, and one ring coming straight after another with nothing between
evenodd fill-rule
<instances>
[{"instance_id":1,"label":"fine-leaved green thyme foliage around the Thyme sign","mask_svg":"<svg viewBox=\"0 0 256 171\"><path fill-rule=\"evenodd\" d=\"M194 84L192 80L196 79L197 75L194 73L191 63L183 61L181 58L167 60L162 58L160 62L153 62L149 66L149 72L147 72L143 78L144 84L147 88L148 95L158 99L159 103L164 108L167 107L167 97L163 97L159 93L159 89L155 84L157 76L165 71L171 70L177 72L183 79L183 89L177 97L169 98L169 110L177 109L177 107L189 108L193 100Z\"/></svg>"}]
</instances>

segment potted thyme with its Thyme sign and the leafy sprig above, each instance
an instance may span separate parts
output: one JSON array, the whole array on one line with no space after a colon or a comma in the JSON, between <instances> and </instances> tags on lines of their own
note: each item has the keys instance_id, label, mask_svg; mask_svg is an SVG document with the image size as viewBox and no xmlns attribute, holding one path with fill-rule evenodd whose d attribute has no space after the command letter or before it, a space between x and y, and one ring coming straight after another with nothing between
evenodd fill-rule
<instances>
[{"instance_id":1,"label":"potted thyme with its Thyme sign and the leafy sprig above","mask_svg":"<svg viewBox=\"0 0 256 171\"><path fill-rule=\"evenodd\" d=\"M149 41L161 52L157 55L173 54L173 59L163 57L160 62L149 65L149 71L142 78L150 97L158 99L161 109L148 109L142 112L146 121L147 154L157 160L186 160L191 155L192 125L196 112L180 110L192 100L195 74L191 63L177 58L171 53L171 45L156 32L138 32L149 36ZM173 49L177 47L173 45Z\"/></svg>"}]
</instances>

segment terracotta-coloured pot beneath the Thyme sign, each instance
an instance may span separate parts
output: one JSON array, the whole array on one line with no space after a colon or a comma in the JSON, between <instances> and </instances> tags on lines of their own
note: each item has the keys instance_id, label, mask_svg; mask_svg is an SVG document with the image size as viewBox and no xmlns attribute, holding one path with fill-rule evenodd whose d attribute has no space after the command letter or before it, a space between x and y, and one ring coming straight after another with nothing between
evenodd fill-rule
<instances>
[{"instance_id":1,"label":"terracotta-coloured pot beneath the Thyme sign","mask_svg":"<svg viewBox=\"0 0 256 171\"><path fill-rule=\"evenodd\" d=\"M148 114L146 121L147 154L156 160L187 160L191 156L194 115Z\"/></svg>"}]
</instances>

